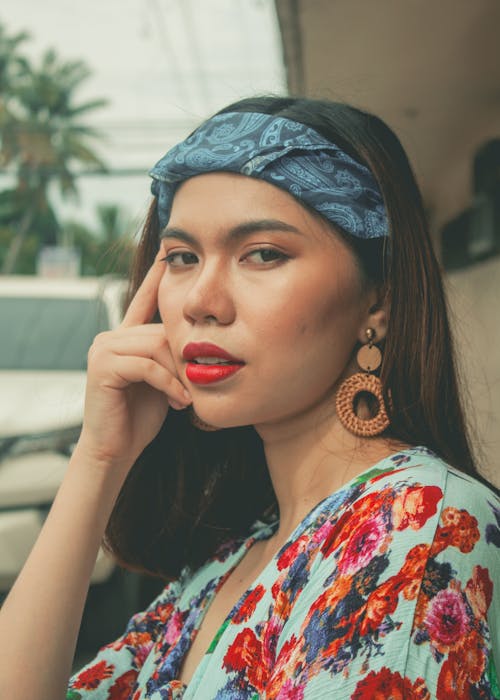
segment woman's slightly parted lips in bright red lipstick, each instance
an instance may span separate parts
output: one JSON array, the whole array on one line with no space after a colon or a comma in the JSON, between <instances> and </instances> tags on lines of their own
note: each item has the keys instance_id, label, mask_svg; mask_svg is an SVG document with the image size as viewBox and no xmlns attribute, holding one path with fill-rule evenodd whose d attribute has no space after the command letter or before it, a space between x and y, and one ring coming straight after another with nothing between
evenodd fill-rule
<instances>
[{"instance_id":1,"label":"woman's slightly parted lips in bright red lipstick","mask_svg":"<svg viewBox=\"0 0 500 700\"><path fill-rule=\"evenodd\" d=\"M212 343L188 343L182 351L186 377L193 384L212 384L230 377L245 364ZM218 361L219 360L219 361Z\"/></svg>"}]
</instances>

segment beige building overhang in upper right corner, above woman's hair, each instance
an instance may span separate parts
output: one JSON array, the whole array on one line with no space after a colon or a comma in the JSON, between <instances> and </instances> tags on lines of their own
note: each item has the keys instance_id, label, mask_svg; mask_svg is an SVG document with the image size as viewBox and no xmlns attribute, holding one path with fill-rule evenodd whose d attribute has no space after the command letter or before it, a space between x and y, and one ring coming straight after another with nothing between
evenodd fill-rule
<instances>
[{"instance_id":1,"label":"beige building overhang in upper right corner, above woman's hair","mask_svg":"<svg viewBox=\"0 0 500 700\"><path fill-rule=\"evenodd\" d=\"M467 206L472 157L500 137L498 0L276 0L292 94L381 116L433 227Z\"/></svg>"}]
</instances>

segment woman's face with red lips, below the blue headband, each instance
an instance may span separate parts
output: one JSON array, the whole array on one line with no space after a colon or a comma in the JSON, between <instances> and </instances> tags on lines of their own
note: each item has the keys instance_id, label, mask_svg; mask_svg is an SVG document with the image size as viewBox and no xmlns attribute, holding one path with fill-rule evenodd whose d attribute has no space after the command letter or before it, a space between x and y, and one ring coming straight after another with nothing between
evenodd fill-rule
<instances>
[{"instance_id":1,"label":"woman's face with red lips, below the blue headband","mask_svg":"<svg viewBox=\"0 0 500 700\"><path fill-rule=\"evenodd\" d=\"M161 246L159 311L200 418L258 426L333 406L373 296L326 223L270 184L210 173L179 187Z\"/></svg>"}]
</instances>

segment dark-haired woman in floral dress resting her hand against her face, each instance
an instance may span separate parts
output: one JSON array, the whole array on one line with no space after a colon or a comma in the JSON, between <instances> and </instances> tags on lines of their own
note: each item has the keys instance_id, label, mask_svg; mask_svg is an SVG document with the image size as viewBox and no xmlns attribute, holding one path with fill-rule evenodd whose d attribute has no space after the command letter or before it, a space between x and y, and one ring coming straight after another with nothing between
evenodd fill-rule
<instances>
[{"instance_id":1,"label":"dark-haired woman in floral dress resting her hand against her face","mask_svg":"<svg viewBox=\"0 0 500 700\"><path fill-rule=\"evenodd\" d=\"M2 610L0 695L64 697L105 532L170 582L67 698L498 697L500 504L396 137L243 100L151 175L133 299Z\"/></svg>"}]
</instances>

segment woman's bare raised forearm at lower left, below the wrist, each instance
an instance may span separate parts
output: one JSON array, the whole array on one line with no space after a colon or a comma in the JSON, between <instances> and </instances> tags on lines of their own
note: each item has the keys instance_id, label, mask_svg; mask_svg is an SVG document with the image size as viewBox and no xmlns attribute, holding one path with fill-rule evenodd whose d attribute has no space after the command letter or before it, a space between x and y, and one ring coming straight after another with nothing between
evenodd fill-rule
<instances>
[{"instance_id":1,"label":"woman's bare raised forearm at lower left, below the wrist","mask_svg":"<svg viewBox=\"0 0 500 700\"><path fill-rule=\"evenodd\" d=\"M84 463L87 462L87 463ZM65 697L93 566L122 478L78 448L0 611L0 697Z\"/></svg>"}]
</instances>

